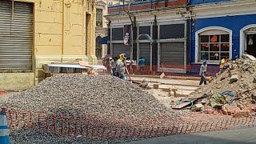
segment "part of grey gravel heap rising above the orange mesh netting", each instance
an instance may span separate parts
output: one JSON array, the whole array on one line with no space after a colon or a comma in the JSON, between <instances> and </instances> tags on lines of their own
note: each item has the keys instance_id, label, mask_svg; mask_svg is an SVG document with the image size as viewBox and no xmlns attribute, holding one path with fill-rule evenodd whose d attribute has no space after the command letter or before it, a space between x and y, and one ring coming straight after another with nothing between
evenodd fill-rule
<instances>
[{"instance_id":1,"label":"part of grey gravel heap rising above the orange mesh netting","mask_svg":"<svg viewBox=\"0 0 256 144\"><path fill-rule=\"evenodd\" d=\"M172 114L152 94L111 76L55 75L2 104L13 110L58 114Z\"/></svg>"}]
</instances>

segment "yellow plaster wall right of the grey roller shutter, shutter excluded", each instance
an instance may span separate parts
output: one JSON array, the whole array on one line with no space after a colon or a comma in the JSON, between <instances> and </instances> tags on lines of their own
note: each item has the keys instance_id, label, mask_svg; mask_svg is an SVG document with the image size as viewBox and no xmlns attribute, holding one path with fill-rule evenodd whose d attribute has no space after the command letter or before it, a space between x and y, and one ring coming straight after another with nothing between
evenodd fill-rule
<instances>
[{"instance_id":1,"label":"yellow plaster wall right of the grey roller shutter, shutter excluded","mask_svg":"<svg viewBox=\"0 0 256 144\"><path fill-rule=\"evenodd\" d=\"M74 62L77 58L92 64L97 63L94 48L95 0L14 1L34 3L34 82L32 82L34 85L43 79L43 64ZM88 25L87 55L86 14L91 15Z\"/></svg>"}]
</instances>

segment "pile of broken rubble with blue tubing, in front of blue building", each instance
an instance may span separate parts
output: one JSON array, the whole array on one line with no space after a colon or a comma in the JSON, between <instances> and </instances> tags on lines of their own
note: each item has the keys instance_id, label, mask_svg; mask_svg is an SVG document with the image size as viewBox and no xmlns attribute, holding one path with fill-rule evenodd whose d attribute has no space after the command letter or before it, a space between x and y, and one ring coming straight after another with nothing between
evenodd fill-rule
<instances>
[{"instance_id":1,"label":"pile of broken rubble with blue tubing, in front of blue building","mask_svg":"<svg viewBox=\"0 0 256 144\"><path fill-rule=\"evenodd\" d=\"M190 99L196 103L192 110L205 113L222 110L226 114L254 110L256 58L243 54L241 59L229 60L224 67L207 86L192 93Z\"/></svg>"}]
</instances>

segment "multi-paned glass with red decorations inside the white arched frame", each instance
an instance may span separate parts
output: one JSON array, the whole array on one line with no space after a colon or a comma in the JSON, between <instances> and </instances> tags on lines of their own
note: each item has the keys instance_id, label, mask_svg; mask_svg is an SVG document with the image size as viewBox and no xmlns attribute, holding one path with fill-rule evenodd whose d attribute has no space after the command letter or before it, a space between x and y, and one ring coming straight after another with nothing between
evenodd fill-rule
<instances>
[{"instance_id":1,"label":"multi-paned glass with red decorations inside the white arched frame","mask_svg":"<svg viewBox=\"0 0 256 144\"><path fill-rule=\"evenodd\" d=\"M219 61L230 57L229 34L199 35L199 60Z\"/></svg>"}]
</instances>

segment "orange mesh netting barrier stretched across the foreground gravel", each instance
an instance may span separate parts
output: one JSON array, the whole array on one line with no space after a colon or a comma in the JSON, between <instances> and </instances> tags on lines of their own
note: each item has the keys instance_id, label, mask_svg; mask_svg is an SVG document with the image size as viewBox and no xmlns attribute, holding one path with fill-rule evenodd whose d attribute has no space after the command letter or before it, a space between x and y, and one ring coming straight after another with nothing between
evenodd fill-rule
<instances>
[{"instance_id":1,"label":"orange mesh netting barrier stretched across the foreground gravel","mask_svg":"<svg viewBox=\"0 0 256 144\"><path fill-rule=\"evenodd\" d=\"M254 109L255 110L255 109ZM74 138L159 137L173 134L200 133L234 127L254 127L255 111L241 110L231 114L178 115L102 115L53 114L6 110L12 130L45 130Z\"/></svg>"}]
</instances>

